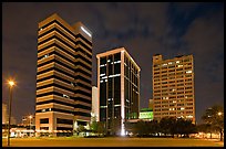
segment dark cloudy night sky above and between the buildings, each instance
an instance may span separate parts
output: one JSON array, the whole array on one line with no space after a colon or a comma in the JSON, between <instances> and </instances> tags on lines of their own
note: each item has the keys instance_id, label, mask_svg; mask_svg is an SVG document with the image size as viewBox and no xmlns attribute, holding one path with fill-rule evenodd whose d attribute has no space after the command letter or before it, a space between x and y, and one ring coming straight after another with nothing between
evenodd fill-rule
<instances>
[{"instance_id":1,"label":"dark cloudy night sky above and between the buildings","mask_svg":"<svg viewBox=\"0 0 226 149\"><path fill-rule=\"evenodd\" d=\"M194 55L196 120L224 104L224 3L166 2L3 2L2 102L13 78L12 116L34 114L38 23L58 13L69 24L92 31L93 78L96 54L124 46L141 67L141 108L152 98L152 56Z\"/></svg>"}]
</instances>

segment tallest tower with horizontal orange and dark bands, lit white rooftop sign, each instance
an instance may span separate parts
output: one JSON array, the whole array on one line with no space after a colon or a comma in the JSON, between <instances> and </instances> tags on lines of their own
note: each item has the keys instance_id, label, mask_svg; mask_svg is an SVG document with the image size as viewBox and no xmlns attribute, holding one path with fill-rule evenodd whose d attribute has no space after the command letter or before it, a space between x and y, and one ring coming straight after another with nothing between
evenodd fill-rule
<instances>
[{"instance_id":1,"label":"tallest tower with horizontal orange and dark bands, lit white rooftop sign","mask_svg":"<svg viewBox=\"0 0 226 149\"><path fill-rule=\"evenodd\" d=\"M54 136L90 121L92 35L58 14L39 23L35 129Z\"/></svg>"}]
</instances>

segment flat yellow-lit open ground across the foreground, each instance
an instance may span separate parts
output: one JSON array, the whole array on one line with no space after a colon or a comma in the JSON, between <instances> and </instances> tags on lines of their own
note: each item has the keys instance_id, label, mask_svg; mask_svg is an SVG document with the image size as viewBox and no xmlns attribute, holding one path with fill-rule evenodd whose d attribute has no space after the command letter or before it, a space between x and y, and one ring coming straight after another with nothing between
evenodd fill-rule
<instances>
[{"instance_id":1,"label":"flat yellow-lit open ground across the foreground","mask_svg":"<svg viewBox=\"0 0 226 149\"><path fill-rule=\"evenodd\" d=\"M11 147L224 147L218 140L182 138L10 138ZM2 139L7 147L7 139Z\"/></svg>"}]
</instances>

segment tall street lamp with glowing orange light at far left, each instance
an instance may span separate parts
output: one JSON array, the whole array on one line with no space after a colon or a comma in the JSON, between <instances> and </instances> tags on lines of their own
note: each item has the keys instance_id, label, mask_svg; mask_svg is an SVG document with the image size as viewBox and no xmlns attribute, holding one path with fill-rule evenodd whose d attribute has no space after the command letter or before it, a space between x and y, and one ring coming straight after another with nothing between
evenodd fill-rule
<instances>
[{"instance_id":1,"label":"tall street lamp with glowing orange light at far left","mask_svg":"<svg viewBox=\"0 0 226 149\"><path fill-rule=\"evenodd\" d=\"M12 103L12 87L14 86L13 81L9 81L10 98L9 98L9 126L8 126L8 141L7 145L10 146L10 121L11 121L11 103Z\"/></svg>"}]
</instances>

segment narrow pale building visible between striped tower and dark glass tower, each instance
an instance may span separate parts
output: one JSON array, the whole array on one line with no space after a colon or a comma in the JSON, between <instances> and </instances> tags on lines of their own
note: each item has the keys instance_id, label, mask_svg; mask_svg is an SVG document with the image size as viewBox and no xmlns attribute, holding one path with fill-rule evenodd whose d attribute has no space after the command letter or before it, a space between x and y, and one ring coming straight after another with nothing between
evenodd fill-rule
<instances>
[{"instance_id":1,"label":"narrow pale building visible between striped tower and dark glass tower","mask_svg":"<svg viewBox=\"0 0 226 149\"><path fill-rule=\"evenodd\" d=\"M92 111L91 111L91 123L92 121L99 121L99 110L100 110L100 104L99 104L99 89L97 87L92 87Z\"/></svg>"}]
</instances>

